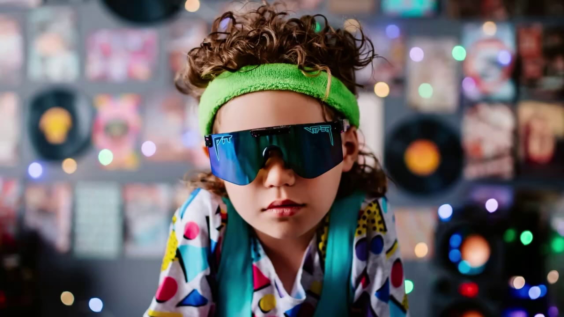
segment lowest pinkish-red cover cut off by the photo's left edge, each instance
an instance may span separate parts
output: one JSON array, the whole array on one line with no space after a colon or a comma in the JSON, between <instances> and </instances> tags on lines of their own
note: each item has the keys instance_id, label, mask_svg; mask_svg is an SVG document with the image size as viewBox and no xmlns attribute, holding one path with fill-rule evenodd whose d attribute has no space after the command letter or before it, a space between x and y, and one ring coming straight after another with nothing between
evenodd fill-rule
<instances>
[{"instance_id":1,"label":"lowest pinkish-red cover cut off by the photo's left edge","mask_svg":"<svg viewBox=\"0 0 564 317\"><path fill-rule=\"evenodd\" d=\"M13 244L21 206L21 184L17 179L0 178L0 245Z\"/></svg>"}]
</instances>

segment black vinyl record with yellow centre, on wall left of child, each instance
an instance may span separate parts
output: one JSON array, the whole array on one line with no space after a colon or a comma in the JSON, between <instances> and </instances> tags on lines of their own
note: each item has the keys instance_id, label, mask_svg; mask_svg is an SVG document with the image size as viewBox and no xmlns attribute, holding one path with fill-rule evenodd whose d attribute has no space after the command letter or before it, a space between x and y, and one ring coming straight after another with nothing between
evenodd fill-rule
<instances>
[{"instance_id":1,"label":"black vinyl record with yellow centre, on wall left of child","mask_svg":"<svg viewBox=\"0 0 564 317\"><path fill-rule=\"evenodd\" d=\"M45 160L73 157L90 144L94 108L75 91L43 91L30 103L28 129L32 146Z\"/></svg>"}]
</instances>

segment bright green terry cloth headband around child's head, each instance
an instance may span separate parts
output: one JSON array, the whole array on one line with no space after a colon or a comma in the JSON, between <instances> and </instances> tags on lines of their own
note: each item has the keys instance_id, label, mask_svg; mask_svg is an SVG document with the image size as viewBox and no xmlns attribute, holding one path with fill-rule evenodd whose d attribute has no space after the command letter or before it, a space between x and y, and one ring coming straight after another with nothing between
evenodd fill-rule
<instances>
[{"instance_id":1,"label":"bright green terry cloth headband around child's head","mask_svg":"<svg viewBox=\"0 0 564 317\"><path fill-rule=\"evenodd\" d=\"M358 127L360 112L355 95L338 78L331 77L329 95L325 98L327 80L326 72L306 76L293 64L262 64L242 67L234 73L224 72L209 83L201 96L198 113L201 133L211 134L215 113L223 104L236 96L264 90L295 91L323 100Z\"/></svg>"}]
</instances>

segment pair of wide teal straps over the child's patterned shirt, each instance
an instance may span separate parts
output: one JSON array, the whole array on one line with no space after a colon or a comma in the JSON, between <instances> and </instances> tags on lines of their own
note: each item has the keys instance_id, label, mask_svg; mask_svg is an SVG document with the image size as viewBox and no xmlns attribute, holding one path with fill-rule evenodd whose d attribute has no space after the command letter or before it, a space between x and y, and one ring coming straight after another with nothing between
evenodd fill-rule
<instances>
[{"instance_id":1,"label":"pair of wide teal straps over the child's patterned shirt","mask_svg":"<svg viewBox=\"0 0 564 317\"><path fill-rule=\"evenodd\" d=\"M329 210L329 236L321 298L314 317L347 316L352 292L352 243L364 193L336 200ZM249 225L227 205L228 223L219 263L217 317L249 316L253 300L253 262Z\"/></svg>"}]
</instances>

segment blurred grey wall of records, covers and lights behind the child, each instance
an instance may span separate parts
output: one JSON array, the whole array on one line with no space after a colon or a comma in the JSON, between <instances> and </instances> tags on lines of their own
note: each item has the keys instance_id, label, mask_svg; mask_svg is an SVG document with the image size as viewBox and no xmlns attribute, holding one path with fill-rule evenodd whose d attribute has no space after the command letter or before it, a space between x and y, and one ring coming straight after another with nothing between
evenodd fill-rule
<instances>
[{"instance_id":1,"label":"blurred grey wall of records, covers and lights behind the child","mask_svg":"<svg viewBox=\"0 0 564 317\"><path fill-rule=\"evenodd\" d=\"M411 315L558 316L563 2L287 5L383 57L357 73L361 130L393 179ZM147 309L180 180L207 167L174 73L243 7L0 0L0 315Z\"/></svg>"}]
</instances>

